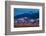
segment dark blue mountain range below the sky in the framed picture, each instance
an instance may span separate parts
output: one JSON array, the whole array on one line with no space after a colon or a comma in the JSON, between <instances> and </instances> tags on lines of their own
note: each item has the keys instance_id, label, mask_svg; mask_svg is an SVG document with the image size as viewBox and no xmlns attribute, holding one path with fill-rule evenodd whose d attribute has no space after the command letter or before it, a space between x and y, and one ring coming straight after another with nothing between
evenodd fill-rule
<instances>
[{"instance_id":1,"label":"dark blue mountain range below the sky in the framed picture","mask_svg":"<svg viewBox=\"0 0 46 36\"><path fill-rule=\"evenodd\" d=\"M24 14L16 15L16 16L14 16L14 19L24 18L24 17L27 17L30 19L36 19L36 18L39 18L39 12L38 13L32 13L32 14L24 13Z\"/></svg>"}]
</instances>

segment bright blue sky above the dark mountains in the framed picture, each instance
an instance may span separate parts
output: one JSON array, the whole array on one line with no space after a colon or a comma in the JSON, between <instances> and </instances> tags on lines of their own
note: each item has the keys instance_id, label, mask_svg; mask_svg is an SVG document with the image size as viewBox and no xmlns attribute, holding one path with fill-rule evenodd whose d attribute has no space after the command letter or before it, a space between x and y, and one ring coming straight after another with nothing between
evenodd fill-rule
<instances>
[{"instance_id":1,"label":"bright blue sky above the dark mountains in the framed picture","mask_svg":"<svg viewBox=\"0 0 46 36\"><path fill-rule=\"evenodd\" d=\"M14 8L14 16L16 15L21 15L24 13L37 13L37 11L39 11L39 9L28 9L28 8Z\"/></svg>"}]
</instances>

